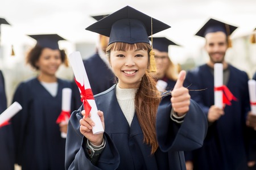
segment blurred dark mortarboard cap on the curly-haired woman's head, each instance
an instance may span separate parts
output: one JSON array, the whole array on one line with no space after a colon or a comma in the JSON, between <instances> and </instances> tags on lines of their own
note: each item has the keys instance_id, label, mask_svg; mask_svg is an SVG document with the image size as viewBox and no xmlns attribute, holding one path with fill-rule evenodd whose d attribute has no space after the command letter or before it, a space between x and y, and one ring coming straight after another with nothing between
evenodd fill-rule
<instances>
[{"instance_id":1,"label":"blurred dark mortarboard cap on the curly-haired woman's head","mask_svg":"<svg viewBox=\"0 0 256 170\"><path fill-rule=\"evenodd\" d=\"M28 35L37 41L36 45L43 48L59 49L58 41L65 40L57 34Z\"/></svg>"}]
</instances>

